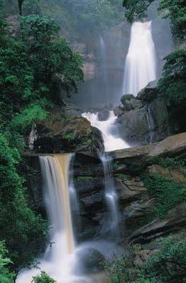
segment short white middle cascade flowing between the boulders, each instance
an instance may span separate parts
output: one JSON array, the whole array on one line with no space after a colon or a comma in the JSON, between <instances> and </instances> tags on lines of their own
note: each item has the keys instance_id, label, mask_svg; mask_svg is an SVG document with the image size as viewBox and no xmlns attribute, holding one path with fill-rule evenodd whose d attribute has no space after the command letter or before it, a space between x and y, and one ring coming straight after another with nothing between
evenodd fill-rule
<instances>
[{"instance_id":1,"label":"short white middle cascade flowing between the boulders","mask_svg":"<svg viewBox=\"0 0 186 283\"><path fill-rule=\"evenodd\" d=\"M127 144L123 139L112 134L112 127L115 126L115 122L117 120L113 111L110 111L109 117L106 121L99 121L98 113L86 112L83 113L82 116L91 122L91 126L100 129L103 136L105 151L114 151L129 147L129 144Z\"/></svg>"}]
</instances>

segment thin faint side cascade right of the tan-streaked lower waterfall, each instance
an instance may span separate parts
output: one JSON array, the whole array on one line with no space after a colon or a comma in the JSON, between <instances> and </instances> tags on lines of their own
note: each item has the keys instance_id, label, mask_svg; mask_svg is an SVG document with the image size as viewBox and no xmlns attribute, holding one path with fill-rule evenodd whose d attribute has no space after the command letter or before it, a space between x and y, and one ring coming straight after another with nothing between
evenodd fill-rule
<instances>
[{"instance_id":1,"label":"thin faint side cascade right of the tan-streaked lower waterfall","mask_svg":"<svg viewBox=\"0 0 186 283\"><path fill-rule=\"evenodd\" d=\"M110 231L112 236L119 236L118 197L112 175L112 158L108 154L100 154L105 175L105 202L109 212Z\"/></svg>"}]
</instances>

